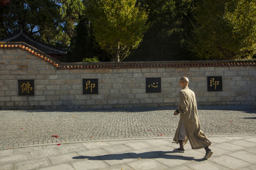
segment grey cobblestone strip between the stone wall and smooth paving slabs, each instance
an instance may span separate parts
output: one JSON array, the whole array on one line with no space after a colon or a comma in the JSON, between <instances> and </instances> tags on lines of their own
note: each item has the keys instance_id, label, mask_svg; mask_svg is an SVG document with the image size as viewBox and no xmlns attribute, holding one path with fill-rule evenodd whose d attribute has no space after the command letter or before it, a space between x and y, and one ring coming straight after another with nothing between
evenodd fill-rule
<instances>
[{"instance_id":1,"label":"grey cobblestone strip between the stone wall and smooth paving slabs","mask_svg":"<svg viewBox=\"0 0 256 170\"><path fill-rule=\"evenodd\" d=\"M0 111L0 149L53 143L173 137L171 108ZM256 110L198 111L206 135L255 135ZM52 137L58 135L59 137Z\"/></svg>"}]
</instances>

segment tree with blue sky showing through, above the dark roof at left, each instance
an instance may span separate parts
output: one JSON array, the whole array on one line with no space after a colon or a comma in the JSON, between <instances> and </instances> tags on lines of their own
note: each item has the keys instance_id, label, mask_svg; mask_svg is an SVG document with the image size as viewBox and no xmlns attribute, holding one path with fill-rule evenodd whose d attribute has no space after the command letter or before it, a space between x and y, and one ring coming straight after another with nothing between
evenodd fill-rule
<instances>
[{"instance_id":1,"label":"tree with blue sky showing through, above the dark roof at left","mask_svg":"<svg viewBox=\"0 0 256 170\"><path fill-rule=\"evenodd\" d=\"M23 30L42 42L68 47L83 10L80 0L11 0L0 7L0 36Z\"/></svg>"}]
</instances>

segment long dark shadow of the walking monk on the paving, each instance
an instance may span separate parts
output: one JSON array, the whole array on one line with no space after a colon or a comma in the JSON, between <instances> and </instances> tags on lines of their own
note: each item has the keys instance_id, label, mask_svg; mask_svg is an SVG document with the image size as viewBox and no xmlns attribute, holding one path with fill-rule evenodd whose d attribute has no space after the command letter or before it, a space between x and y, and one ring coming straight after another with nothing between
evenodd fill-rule
<instances>
[{"instance_id":1,"label":"long dark shadow of the walking monk on the paving","mask_svg":"<svg viewBox=\"0 0 256 170\"><path fill-rule=\"evenodd\" d=\"M186 154L186 153L184 153ZM186 157L185 155L179 155L176 152L163 152L163 151L154 151L154 152L144 152L140 154L128 152L124 154L105 154L95 157L90 156L79 156L73 157L73 159L88 159L88 160L123 160L123 159L179 159L179 160L187 160L187 161L196 161L203 162L206 159L195 159L194 157Z\"/></svg>"}]
</instances>

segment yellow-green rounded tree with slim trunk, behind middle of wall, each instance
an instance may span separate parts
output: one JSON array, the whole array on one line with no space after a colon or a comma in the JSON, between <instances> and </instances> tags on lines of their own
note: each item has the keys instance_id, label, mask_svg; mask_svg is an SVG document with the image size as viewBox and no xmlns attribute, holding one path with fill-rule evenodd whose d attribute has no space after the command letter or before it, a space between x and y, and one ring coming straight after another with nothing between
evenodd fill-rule
<instances>
[{"instance_id":1,"label":"yellow-green rounded tree with slim trunk, behind middle of wall","mask_svg":"<svg viewBox=\"0 0 256 170\"><path fill-rule=\"evenodd\" d=\"M147 12L137 0L91 0L87 16L96 41L120 62L136 49L146 32Z\"/></svg>"}]
</instances>

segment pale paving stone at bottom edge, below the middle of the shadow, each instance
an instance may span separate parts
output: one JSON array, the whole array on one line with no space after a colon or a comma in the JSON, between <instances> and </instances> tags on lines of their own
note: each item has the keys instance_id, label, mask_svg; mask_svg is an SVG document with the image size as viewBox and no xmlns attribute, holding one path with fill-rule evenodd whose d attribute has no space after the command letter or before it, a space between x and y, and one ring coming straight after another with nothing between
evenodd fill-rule
<instances>
[{"instance_id":1,"label":"pale paving stone at bottom edge, below the middle of the shadow","mask_svg":"<svg viewBox=\"0 0 256 170\"><path fill-rule=\"evenodd\" d=\"M168 166L161 164L160 162L155 161L154 159L147 159L147 160L139 160L137 162L130 162L127 163L129 166L131 166L133 169L138 170L150 170L150 169L169 169Z\"/></svg>"}]
</instances>

